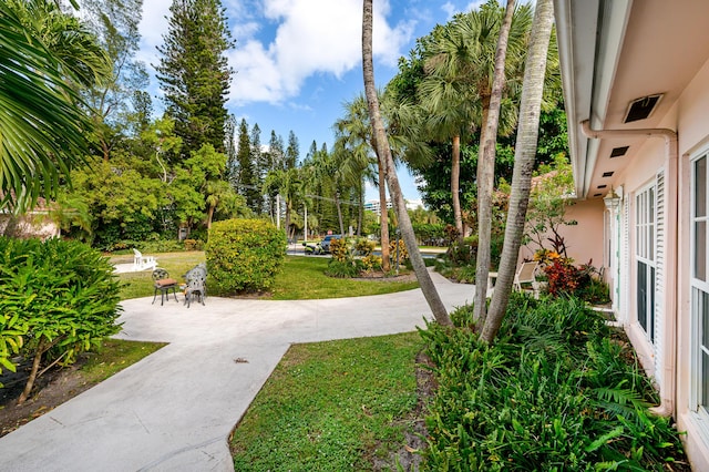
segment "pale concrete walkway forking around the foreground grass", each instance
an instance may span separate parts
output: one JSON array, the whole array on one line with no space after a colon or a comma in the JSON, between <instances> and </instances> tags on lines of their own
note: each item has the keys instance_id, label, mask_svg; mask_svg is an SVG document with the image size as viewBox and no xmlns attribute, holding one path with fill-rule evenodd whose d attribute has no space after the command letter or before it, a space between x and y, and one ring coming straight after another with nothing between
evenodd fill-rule
<instances>
[{"instance_id":1,"label":"pale concrete walkway forking around the foreground grass","mask_svg":"<svg viewBox=\"0 0 709 472\"><path fill-rule=\"evenodd\" d=\"M472 285L432 274L449 308ZM233 471L228 435L291 343L405 332L420 290L328 300L123 302L119 337L168 346L0 439L3 471Z\"/></svg>"}]
</instances>

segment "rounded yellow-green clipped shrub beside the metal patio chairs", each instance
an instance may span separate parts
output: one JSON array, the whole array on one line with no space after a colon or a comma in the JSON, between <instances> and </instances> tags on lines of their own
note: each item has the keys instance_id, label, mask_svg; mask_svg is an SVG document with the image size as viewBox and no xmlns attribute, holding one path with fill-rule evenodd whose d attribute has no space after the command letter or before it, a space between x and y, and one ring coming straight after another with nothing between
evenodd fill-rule
<instances>
[{"instance_id":1,"label":"rounded yellow-green clipped shrub beside the metal patio chairs","mask_svg":"<svg viewBox=\"0 0 709 472\"><path fill-rule=\"evenodd\" d=\"M205 246L209 290L229 295L269 289L286 257L286 235L269 222L214 223Z\"/></svg>"}]
</instances>

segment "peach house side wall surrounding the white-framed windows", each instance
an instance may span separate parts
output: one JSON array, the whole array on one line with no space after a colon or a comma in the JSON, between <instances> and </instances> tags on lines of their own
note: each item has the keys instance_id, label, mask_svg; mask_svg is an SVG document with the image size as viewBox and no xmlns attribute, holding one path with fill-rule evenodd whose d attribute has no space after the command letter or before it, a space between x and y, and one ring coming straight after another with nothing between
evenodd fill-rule
<instances>
[{"instance_id":1,"label":"peach house side wall surrounding the white-framed windows","mask_svg":"<svg viewBox=\"0 0 709 472\"><path fill-rule=\"evenodd\" d=\"M686 431L684 437L688 454L695 470L709 470L709 424L700 421L691 410L692 386L692 342L696 327L692 325L690 306L691 275L691 160L700 152L709 151L709 62L700 70L689 86L682 92L671 111L664 117L661 126L677 130L679 141L678 168L672 171L662 138L648 137L640 147L638 157L630 162L625 171L616 176L615 187L623 193L629 212L624 223L624 235L627 238L627 252L621 255L620 264L626 267L625 280L620 284L620 307L624 311L625 330L638 353L643 367L654 377L662 396L672 396L677 414L678 429ZM677 212L666 212L668 225L677 226L677 247L665 247L665 267L677 267L675 280L658 279L658 293L662 299L656 301L656 340L651 343L637 320L637 264L635 225L635 197L639 192L655 183L658 172L666 176L677 175L676 179L666 178L665 193L678 193ZM674 174L677 172L677 174ZM580 226L580 225L579 225ZM580 235L579 237L584 237ZM588 240L586 238L586 240ZM667 277L667 276L666 276ZM664 290L664 291L662 291ZM657 296L660 297L659 295ZM676 308L675 308L676 307ZM676 311L677 319L674 319ZM677 346L666 338L666 332L677 329ZM676 358L674 350L676 349ZM671 381L667 377L675 376L676 393L667 392ZM665 377L665 378L664 378Z\"/></svg>"}]
</instances>

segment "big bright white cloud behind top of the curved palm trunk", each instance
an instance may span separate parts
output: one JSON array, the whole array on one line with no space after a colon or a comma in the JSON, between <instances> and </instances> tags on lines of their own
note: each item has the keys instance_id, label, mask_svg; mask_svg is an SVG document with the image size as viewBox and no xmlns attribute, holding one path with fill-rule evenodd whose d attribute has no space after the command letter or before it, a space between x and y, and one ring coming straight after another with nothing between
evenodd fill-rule
<instances>
[{"instance_id":1,"label":"big bright white cloud behind top of the curved palm trunk","mask_svg":"<svg viewBox=\"0 0 709 472\"><path fill-rule=\"evenodd\" d=\"M408 23L390 27L384 18L388 3L378 4L374 54L393 65L402 45L411 40L412 28ZM264 17L276 24L274 35L267 45L250 39L230 53L230 63L238 71L232 100L281 102L298 95L312 74L340 78L358 66L361 9L359 0L266 0Z\"/></svg>"}]
</instances>

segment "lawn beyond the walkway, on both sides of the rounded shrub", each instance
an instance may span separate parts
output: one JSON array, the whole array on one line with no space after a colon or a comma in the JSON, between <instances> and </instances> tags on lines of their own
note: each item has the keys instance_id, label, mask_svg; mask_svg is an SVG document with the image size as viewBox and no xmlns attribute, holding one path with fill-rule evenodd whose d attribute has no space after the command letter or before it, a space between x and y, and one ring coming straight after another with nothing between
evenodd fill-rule
<instances>
[{"instance_id":1,"label":"lawn beyond the walkway, on both sides of the rounded shrub","mask_svg":"<svg viewBox=\"0 0 709 472\"><path fill-rule=\"evenodd\" d=\"M182 276L205 260L203 252L156 254L157 265L173 278ZM114 264L127 263L132 258L116 256ZM391 294L417 288L417 281L354 280L332 278L325 275L329 257L286 256L284 269L276 277L274 300L304 300L318 298L360 297L364 295ZM119 274L122 287L121 299L150 297L153 295L151 271ZM207 280L208 286L208 280Z\"/></svg>"}]
</instances>

